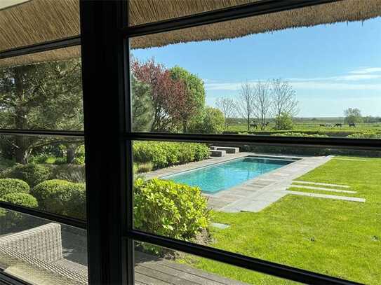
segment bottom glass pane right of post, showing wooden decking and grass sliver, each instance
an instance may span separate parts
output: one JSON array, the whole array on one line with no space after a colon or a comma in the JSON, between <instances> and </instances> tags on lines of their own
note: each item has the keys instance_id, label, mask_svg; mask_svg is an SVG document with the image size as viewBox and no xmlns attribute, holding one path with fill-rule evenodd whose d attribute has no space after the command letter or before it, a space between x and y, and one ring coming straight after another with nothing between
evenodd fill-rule
<instances>
[{"instance_id":1,"label":"bottom glass pane right of post, showing wooden decking and grass sliver","mask_svg":"<svg viewBox=\"0 0 381 285\"><path fill-rule=\"evenodd\" d=\"M245 285L297 283L181 251L135 242L135 284Z\"/></svg>"}]
</instances>

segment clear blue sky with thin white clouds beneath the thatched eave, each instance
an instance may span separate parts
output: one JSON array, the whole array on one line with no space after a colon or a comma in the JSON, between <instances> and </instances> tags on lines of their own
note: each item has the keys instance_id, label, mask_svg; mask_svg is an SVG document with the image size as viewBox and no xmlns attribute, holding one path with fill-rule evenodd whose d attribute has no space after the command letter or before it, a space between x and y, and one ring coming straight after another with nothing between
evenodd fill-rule
<instances>
[{"instance_id":1,"label":"clear blue sky with thin white clouds beneath the thatched eave","mask_svg":"<svg viewBox=\"0 0 381 285\"><path fill-rule=\"evenodd\" d=\"M381 116L381 18L132 53L197 74L209 106L238 97L241 83L283 78L296 91L300 117L342 116L349 107Z\"/></svg>"}]
</instances>

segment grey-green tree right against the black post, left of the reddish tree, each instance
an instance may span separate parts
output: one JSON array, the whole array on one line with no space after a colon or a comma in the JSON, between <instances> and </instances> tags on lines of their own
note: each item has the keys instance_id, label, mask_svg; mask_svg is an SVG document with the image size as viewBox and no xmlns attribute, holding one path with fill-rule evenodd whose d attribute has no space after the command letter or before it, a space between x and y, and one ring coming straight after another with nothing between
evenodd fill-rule
<instances>
[{"instance_id":1,"label":"grey-green tree right against the black post, left of the reddish tree","mask_svg":"<svg viewBox=\"0 0 381 285\"><path fill-rule=\"evenodd\" d=\"M151 88L148 84L139 82L134 76L131 76L131 90L133 131L149 131L151 130L152 119L154 116L151 101Z\"/></svg>"}]
</instances>

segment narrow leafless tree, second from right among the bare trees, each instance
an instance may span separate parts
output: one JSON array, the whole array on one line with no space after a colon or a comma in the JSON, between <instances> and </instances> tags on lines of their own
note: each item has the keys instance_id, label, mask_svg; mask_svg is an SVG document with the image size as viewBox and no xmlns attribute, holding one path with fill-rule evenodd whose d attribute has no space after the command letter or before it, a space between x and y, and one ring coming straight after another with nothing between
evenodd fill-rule
<instances>
[{"instance_id":1,"label":"narrow leafless tree, second from right among the bare trees","mask_svg":"<svg viewBox=\"0 0 381 285\"><path fill-rule=\"evenodd\" d=\"M259 120L260 130L264 130L267 125L267 116L269 115L270 106L272 104L269 81L258 81L253 87L253 94L253 113Z\"/></svg>"}]
</instances>

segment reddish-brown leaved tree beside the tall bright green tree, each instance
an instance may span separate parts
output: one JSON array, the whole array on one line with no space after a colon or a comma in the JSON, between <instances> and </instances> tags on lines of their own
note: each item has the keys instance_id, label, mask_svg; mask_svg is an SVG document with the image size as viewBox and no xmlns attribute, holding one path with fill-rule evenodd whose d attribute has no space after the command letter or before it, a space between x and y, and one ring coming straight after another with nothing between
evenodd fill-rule
<instances>
[{"instance_id":1,"label":"reddish-brown leaved tree beside the tall bright green tree","mask_svg":"<svg viewBox=\"0 0 381 285\"><path fill-rule=\"evenodd\" d=\"M182 81L171 77L171 72L154 60L141 63L134 60L131 64L133 76L151 88L153 120L152 132L175 130L182 120L181 112L186 104L186 86Z\"/></svg>"}]
</instances>

